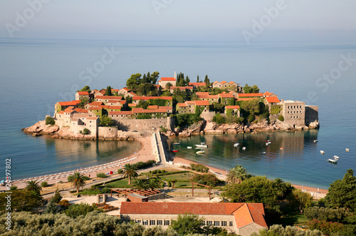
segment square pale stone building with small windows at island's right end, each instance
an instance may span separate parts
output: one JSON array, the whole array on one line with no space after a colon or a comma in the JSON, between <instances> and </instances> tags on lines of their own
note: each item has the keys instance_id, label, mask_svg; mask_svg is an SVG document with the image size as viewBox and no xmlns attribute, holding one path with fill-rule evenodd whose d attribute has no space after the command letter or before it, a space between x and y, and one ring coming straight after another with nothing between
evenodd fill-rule
<instances>
[{"instance_id":1,"label":"square pale stone building with small windows at island's right end","mask_svg":"<svg viewBox=\"0 0 356 236\"><path fill-rule=\"evenodd\" d=\"M281 101L284 123L296 128L305 125L305 103L301 101Z\"/></svg>"}]
</instances>

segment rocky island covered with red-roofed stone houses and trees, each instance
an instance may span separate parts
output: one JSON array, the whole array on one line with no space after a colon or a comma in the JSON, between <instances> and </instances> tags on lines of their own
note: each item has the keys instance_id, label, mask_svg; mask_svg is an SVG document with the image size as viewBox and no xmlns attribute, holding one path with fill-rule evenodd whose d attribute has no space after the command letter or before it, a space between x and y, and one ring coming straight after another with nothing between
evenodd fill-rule
<instances>
[{"instance_id":1,"label":"rocky island covered with red-roofed stone houses and trees","mask_svg":"<svg viewBox=\"0 0 356 236\"><path fill-rule=\"evenodd\" d=\"M126 87L91 90L85 86L73 101L58 101L53 116L23 132L76 140L127 140L142 132L167 136L256 133L319 128L318 106L261 93L258 86L234 81L191 82L184 73L161 77L135 73Z\"/></svg>"}]
</instances>

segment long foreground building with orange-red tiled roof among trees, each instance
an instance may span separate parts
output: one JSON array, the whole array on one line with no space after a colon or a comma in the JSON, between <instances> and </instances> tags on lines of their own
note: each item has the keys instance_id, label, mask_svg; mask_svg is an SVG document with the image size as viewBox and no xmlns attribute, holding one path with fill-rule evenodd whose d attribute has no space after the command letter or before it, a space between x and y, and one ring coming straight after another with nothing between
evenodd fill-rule
<instances>
[{"instance_id":1,"label":"long foreground building with orange-red tiled roof among trees","mask_svg":"<svg viewBox=\"0 0 356 236\"><path fill-rule=\"evenodd\" d=\"M262 203L122 202L120 207L122 219L148 227L167 228L184 213L203 217L201 225L222 227L241 236L268 228Z\"/></svg>"}]
</instances>

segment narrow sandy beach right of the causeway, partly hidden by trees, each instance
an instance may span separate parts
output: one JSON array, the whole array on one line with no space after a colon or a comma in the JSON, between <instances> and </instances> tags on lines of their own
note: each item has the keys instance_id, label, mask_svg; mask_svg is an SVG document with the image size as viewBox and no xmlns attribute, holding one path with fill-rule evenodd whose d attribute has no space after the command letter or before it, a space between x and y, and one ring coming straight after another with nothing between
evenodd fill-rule
<instances>
[{"instance_id":1,"label":"narrow sandy beach right of the causeway, partly hidden by trees","mask_svg":"<svg viewBox=\"0 0 356 236\"><path fill-rule=\"evenodd\" d=\"M187 159L179 158L179 157L173 158L173 163L174 163L174 165L181 164L181 165L187 165L187 166L190 166L190 163L204 165L203 163L198 163L198 162L193 161L193 160L187 160ZM205 165L205 166L208 167L209 170L211 170L211 172L213 172L218 177L220 177L220 178L222 178L224 180L226 179L226 174L227 174L226 170L221 170L221 169L218 169L218 168L214 168L214 167L211 167L209 165ZM325 197L325 195L328 193L328 190L321 189L321 188L313 188L313 187L308 187L308 186L304 186L304 185L296 185L296 184L293 184L293 183L291 183L291 184L293 185L294 188L300 189L303 192L310 193L313 196L313 198L316 199L316 200Z\"/></svg>"}]
</instances>

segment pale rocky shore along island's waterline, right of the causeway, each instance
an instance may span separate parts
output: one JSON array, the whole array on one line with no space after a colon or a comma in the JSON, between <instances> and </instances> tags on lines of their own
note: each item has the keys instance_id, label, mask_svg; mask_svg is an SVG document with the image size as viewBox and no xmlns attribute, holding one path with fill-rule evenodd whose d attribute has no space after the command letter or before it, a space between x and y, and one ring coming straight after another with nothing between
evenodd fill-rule
<instances>
[{"instance_id":1,"label":"pale rocky shore along island's waterline, right of the causeway","mask_svg":"<svg viewBox=\"0 0 356 236\"><path fill-rule=\"evenodd\" d=\"M215 122L204 122L200 125L200 130L197 130L197 127L187 128L182 131L175 130L176 132L167 132L166 135L188 137L195 134L257 133L265 131L309 130L313 128L319 128L319 121L310 123L308 126L297 127L288 125L281 120L272 120L270 123L268 123L267 120L263 120L257 123L248 123L246 125L238 123L218 125Z\"/></svg>"}]
</instances>

